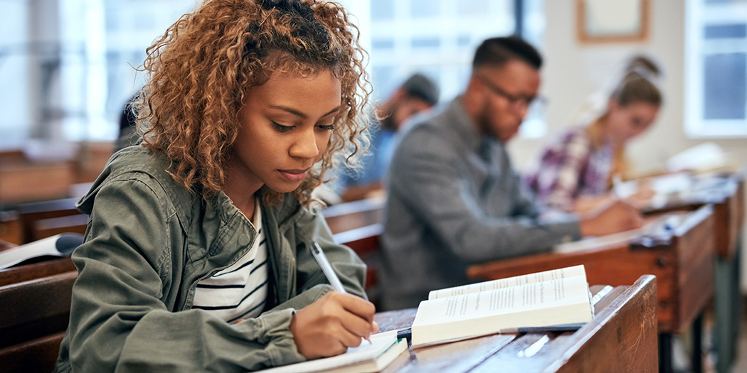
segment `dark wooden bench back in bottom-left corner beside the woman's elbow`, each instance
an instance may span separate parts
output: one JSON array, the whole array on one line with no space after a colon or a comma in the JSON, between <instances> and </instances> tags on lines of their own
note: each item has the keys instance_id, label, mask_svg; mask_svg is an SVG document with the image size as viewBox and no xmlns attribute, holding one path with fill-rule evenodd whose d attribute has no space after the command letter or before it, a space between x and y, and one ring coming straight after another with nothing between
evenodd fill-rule
<instances>
[{"instance_id":1,"label":"dark wooden bench back in bottom-left corner beside the woman's elbow","mask_svg":"<svg viewBox=\"0 0 747 373\"><path fill-rule=\"evenodd\" d=\"M63 272L0 286L0 373L54 369L77 276Z\"/></svg>"}]
</instances>

